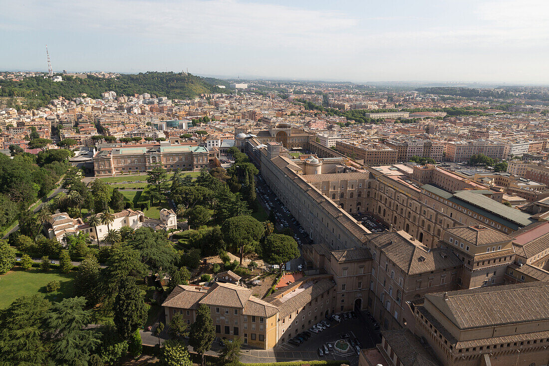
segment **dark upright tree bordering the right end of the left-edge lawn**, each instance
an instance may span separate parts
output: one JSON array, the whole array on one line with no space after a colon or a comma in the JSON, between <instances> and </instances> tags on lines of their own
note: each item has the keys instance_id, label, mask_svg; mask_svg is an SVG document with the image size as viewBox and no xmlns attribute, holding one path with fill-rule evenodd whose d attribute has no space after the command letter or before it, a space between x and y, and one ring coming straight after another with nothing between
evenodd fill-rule
<instances>
[{"instance_id":1,"label":"dark upright tree bordering the right end of the left-edge lawn","mask_svg":"<svg viewBox=\"0 0 549 366\"><path fill-rule=\"evenodd\" d=\"M100 299L99 263L93 254L88 254L74 276L74 290L77 296L84 296L89 305L95 306Z\"/></svg>"}]
</instances>

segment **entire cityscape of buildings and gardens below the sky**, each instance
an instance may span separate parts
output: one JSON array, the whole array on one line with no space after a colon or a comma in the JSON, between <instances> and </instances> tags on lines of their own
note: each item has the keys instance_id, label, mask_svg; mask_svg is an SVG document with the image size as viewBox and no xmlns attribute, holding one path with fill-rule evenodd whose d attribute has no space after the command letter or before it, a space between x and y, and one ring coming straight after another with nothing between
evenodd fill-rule
<instances>
[{"instance_id":1,"label":"entire cityscape of buildings and gardens below the sky","mask_svg":"<svg viewBox=\"0 0 549 366\"><path fill-rule=\"evenodd\" d=\"M541 86L1 72L0 364L547 365L548 113Z\"/></svg>"}]
</instances>

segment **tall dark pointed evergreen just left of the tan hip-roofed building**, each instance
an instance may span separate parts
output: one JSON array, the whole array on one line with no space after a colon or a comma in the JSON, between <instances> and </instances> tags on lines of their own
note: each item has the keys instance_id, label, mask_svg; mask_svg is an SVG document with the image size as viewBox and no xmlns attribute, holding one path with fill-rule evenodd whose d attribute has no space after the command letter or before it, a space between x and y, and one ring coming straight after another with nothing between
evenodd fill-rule
<instances>
[{"instance_id":1,"label":"tall dark pointed evergreen just left of the tan hip-roofed building","mask_svg":"<svg viewBox=\"0 0 549 366\"><path fill-rule=\"evenodd\" d=\"M114 302L114 324L122 338L129 337L147 319L147 308L131 277L120 280L118 295Z\"/></svg>"}]
</instances>

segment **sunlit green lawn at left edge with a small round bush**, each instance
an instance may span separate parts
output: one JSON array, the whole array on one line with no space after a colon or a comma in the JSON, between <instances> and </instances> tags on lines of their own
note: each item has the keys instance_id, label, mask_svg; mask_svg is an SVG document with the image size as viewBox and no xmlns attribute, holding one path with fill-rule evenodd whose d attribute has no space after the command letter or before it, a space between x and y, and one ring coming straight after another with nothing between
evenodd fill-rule
<instances>
[{"instance_id":1,"label":"sunlit green lawn at left edge with a small round bush","mask_svg":"<svg viewBox=\"0 0 549 366\"><path fill-rule=\"evenodd\" d=\"M43 293L49 301L61 301L65 297L74 296L73 277L72 273L58 273L54 270L43 272L37 268L24 271L20 267L15 267L13 271L0 276L0 309L7 308L16 298L23 295ZM61 282L61 289L46 292L46 285L54 280Z\"/></svg>"}]
</instances>

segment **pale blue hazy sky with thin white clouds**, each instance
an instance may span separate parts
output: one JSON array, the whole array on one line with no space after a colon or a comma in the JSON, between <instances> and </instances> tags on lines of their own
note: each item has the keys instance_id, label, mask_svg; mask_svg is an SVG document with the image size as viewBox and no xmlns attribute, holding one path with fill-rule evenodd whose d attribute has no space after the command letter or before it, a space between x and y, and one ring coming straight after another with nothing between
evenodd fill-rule
<instances>
[{"instance_id":1,"label":"pale blue hazy sky with thin white clouds","mask_svg":"<svg viewBox=\"0 0 549 366\"><path fill-rule=\"evenodd\" d=\"M0 70L549 84L547 0L0 0Z\"/></svg>"}]
</instances>

